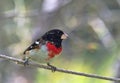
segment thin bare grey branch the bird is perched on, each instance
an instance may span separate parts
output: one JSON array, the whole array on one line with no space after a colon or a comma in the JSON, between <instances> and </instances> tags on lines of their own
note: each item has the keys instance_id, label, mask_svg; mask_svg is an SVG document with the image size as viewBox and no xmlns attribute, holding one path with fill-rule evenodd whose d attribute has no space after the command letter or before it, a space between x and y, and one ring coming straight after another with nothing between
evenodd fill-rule
<instances>
[{"instance_id":1,"label":"thin bare grey branch the bird is perched on","mask_svg":"<svg viewBox=\"0 0 120 83\"><path fill-rule=\"evenodd\" d=\"M18 63L21 63L21 64L24 63L24 60L22 60L22 59L6 56L6 55L2 55L2 54L0 54L0 58L4 58L6 60L18 62ZM43 65L43 64L37 64L37 63L33 63L33 62L29 62L28 66L52 70L49 66L46 66L46 65ZM85 76L85 77L91 77L91 78L98 78L98 79L103 79L103 80L120 82L120 78L99 76L99 75L96 75L96 74L88 74L88 73L76 72L76 71L66 70L66 69L61 69L61 68L56 68L56 71L62 72L62 73L67 73L67 74L74 74L74 75L79 75L79 76Z\"/></svg>"}]
</instances>

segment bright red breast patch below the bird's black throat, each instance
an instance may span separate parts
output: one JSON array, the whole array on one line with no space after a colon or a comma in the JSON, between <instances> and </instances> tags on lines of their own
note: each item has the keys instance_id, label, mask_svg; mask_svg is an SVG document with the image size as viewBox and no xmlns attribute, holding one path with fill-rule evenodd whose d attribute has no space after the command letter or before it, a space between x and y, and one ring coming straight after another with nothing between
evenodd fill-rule
<instances>
[{"instance_id":1,"label":"bright red breast patch below the bird's black throat","mask_svg":"<svg viewBox=\"0 0 120 83\"><path fill-rule=\"evenodd\" d=\"M49 55L49 58L52 58L54 57L55 55L58 55L61 51L62 51L62 47L60 48L57 48L55 45L53 45L52 43L48 42L46 44L47 48L48 48L48 55Z\"/></svg>"}]
</instances>

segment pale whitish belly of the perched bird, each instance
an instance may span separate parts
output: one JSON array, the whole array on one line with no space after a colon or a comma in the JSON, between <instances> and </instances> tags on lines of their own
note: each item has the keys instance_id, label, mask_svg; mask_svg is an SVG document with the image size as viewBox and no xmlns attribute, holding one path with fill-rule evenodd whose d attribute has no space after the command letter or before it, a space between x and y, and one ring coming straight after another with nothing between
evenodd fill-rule
<instances>
[{"instance_id":1,"label":"pale whitish belly of the perched bird","mask_svg":"<svg viewBox=\"0 0 120 83\"><path fill-rule=\"evenodd\" d=\"M33 61L46 63L48 58L48 52L45 45L41 46L40 50L31 50L30 56Z\"/></svg>"}]
</instances>

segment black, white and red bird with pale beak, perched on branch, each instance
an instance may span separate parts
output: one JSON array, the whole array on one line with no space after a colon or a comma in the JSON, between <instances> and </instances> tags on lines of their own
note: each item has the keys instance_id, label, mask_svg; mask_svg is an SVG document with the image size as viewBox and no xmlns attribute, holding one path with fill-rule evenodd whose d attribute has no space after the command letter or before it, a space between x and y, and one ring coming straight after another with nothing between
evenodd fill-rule
<instances>
[{"instance_id":1,"label":"black, white and red bird with pale beak, perched on branch","mask_svg":"<svg viewBox=\"0 0 120 83\"><path fill-rule=\"evenodd\" d=\"M29 59L31 59L39 63L47 63L54 72L56 67L49 62L55 56L60 55L62 52L62 41L67 37L68 35L60 29L52 29L46 32L23 52L24 65L29 64Z\"/></svg>"}]
</instances>

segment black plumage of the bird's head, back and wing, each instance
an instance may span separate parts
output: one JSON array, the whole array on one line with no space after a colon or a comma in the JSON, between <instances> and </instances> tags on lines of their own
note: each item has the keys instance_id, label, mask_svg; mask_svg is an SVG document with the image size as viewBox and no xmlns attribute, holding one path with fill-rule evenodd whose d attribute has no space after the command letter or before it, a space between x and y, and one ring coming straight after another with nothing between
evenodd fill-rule
<instances>
[{"instance_id":1,"label":"black plumage of the bird's head, back and wing","mask_svg":"<svg viewBox=\"0 0 120 83\"><path fill-rule=\"evenodd\" d=\"M46 32L40 39L36 40L34 43L32 43L24 52L23 54L26 54L27 51L38 49L41 45L44 45L47 41L53 43L57 48L61 47L62 43L62 36L63 31L59 29L53 29L48 32ZM38 43L36 43L38 42Z\"/></svg>"}]
</instances>

